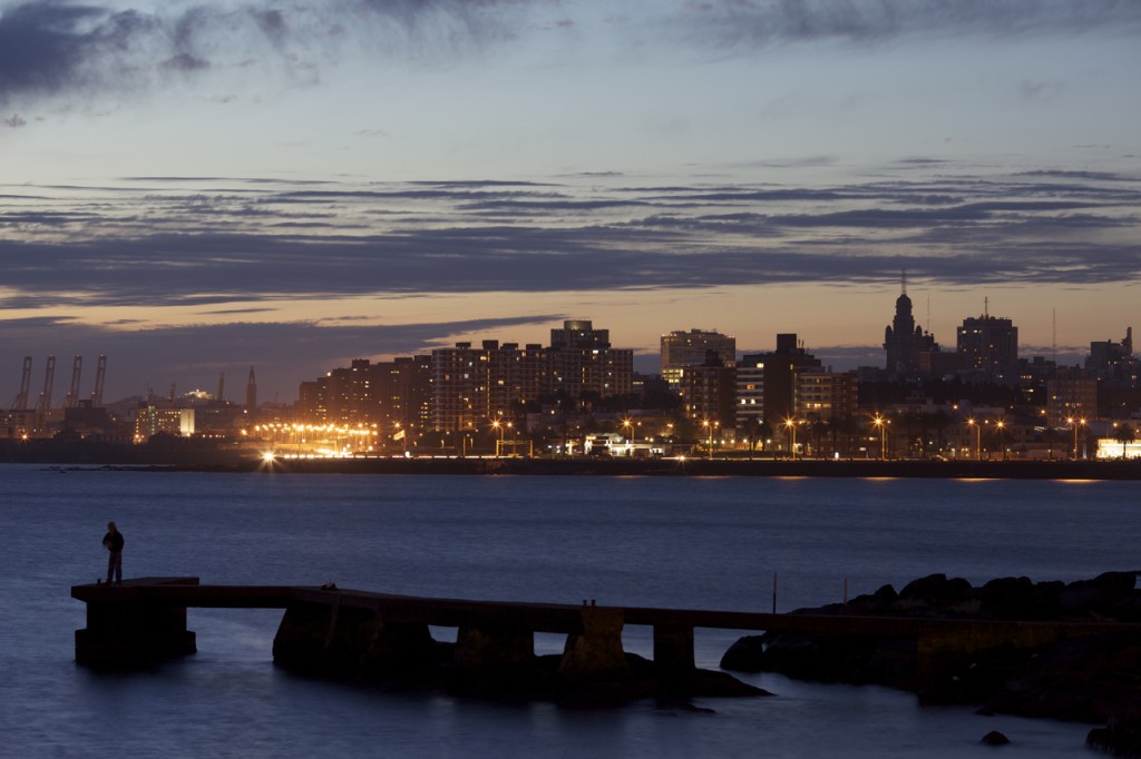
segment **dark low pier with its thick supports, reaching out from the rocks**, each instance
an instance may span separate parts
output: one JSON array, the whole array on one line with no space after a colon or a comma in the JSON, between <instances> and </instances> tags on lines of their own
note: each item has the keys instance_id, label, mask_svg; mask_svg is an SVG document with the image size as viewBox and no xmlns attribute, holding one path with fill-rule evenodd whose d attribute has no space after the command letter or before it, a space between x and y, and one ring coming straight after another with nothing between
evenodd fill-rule
<instances>
[{"instance_id":1,"label":"dark low pier with its thick supports, reaching out from the rocks","mask_svg":"<svg viewBox=\"0 0 1141 759\"><path fill-rule=\"evenodd\" d=\"M458 666L494 667L534 656L534 634L567 635L561 671L590 676L620 668L624 626L648 626L654 663L664 671L693 670L694 630L800 632L913 639L919 668L948 653L1000 645L1034 648L1065 638L1138 631L1141 626L1099 622L989 621L866 615L769 614L741 611L647 609L456 598L424 598L335 587L201 585L199 578L139 578L121 586L79 585L87 628L75 631L75 660L129 667L195 653L188 609L282 609L275 662L340 675L383 672L430 655L428 628L456 628Z\"/></svg>"}]
</instances>

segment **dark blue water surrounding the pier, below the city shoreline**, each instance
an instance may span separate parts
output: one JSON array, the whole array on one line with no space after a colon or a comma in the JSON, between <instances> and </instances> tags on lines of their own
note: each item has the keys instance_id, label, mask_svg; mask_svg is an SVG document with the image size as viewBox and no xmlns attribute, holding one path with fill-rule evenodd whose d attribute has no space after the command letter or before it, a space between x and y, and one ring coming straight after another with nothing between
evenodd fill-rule
<instances>
[{"instance_id":1,"label":"dark blue water surrounding the pier, below the city shoreline","mask_svg":"<svg viewBox=\"0 0 1141 759\"><path fill-rule=\"evenodd\" d=\"M129 577L451 597L767 611L931 572L1074 580L1141 565L1131 482L479 478L0 467L0 756L1098 756L1087 725L920 708L877 687L745 676L777 695L715 713L501 705L277 671L280 612L192 610L199 654L137 675L73 661L115 520ZM439 637L447 634L440 630ZM715 668L733 632L698 630ZM649 655L649 630L628 628ZM540 636L542 652L561 650Z\"/></svg>"}]
</instances>

